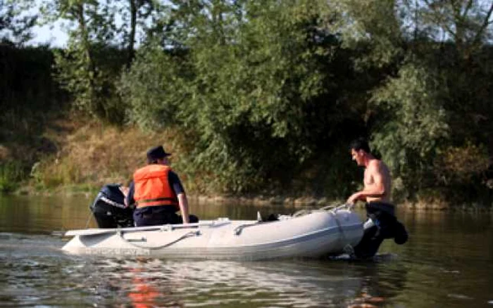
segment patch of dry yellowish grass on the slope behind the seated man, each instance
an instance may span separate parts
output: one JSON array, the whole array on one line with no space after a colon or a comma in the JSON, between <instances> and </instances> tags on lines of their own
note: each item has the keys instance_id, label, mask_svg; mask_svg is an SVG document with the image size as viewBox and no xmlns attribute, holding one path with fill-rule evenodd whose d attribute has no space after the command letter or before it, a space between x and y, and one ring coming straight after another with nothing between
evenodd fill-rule
<instances>
[{"instance_id":1,"label":"patch of dry yellowish grass on the slope behind the seated man","mask_svg":"<svg viewBox=\"0 0 493 308\"><path fill-rule=\"evenodd\" d=\"M66 136L55 135L61 150L39 162L32 172L38 188L127 184L135 169L145 165L149 148L163 144L167 151L175 150L171 131L144 133L135 127L118 129L90 123Z\"/></svg>"}]
</instances>

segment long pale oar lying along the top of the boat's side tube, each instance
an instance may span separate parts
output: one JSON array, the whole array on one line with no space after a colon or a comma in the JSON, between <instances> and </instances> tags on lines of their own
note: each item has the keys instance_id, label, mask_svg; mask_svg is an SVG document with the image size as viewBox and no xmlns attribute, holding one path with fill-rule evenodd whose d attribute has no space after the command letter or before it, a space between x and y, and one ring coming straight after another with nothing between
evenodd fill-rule
<instances>
[{"instance_id":1,"label":"long pale oar lying along the top of the boat's side tube","mask_svg":"<svg viewBox=\"0 0 493 308\"><path fill-rule=\"evenodd\" d=\"M136 226L131 228L116 228L116 229L82 229L70 230L65 233L65 236L94 236L96 234L116 233L116 232L137 232L149 230L173 231L174 229L197 228L199 226L223 226L230 224L230 219L209 220L205 222L196 222L194 224L163 224L159 226Z\"/></svg>"}]
</instances>

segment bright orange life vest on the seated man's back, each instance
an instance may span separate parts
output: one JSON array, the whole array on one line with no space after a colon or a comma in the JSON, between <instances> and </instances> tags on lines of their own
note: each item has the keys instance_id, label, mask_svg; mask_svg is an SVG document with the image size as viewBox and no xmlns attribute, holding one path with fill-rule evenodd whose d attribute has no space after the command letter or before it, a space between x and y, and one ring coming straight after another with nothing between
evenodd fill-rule
<instances>
[{"instance_id":1,"label":"bright orange life vest on the seated man's back","mask_svg":"<svg viewBox=\"0 0 493 308\"><path fill-rule=\"evenodd\" d=\"M137 207L170 205L180 210L178 198L171 189L166 165L147 165L134 173L134 199Z\"/></svg>"}]
</instances>

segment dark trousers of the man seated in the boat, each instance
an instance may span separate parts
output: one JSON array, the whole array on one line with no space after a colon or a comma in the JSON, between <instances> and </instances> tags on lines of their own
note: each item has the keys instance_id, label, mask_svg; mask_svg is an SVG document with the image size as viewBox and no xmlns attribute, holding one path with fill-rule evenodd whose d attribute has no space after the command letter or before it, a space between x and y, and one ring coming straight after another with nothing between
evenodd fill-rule
<instances>
[{"instance_id":1,"label":"dark trousers of the man seated in the boat","mask_svg":"<svg viewBox=\"0 0 493 308\"><path fill-rule=\"evenodd\" d=\"M158 226L161 224L182 224L183 219L170 205L138 207L134 211L135 226ZM189 215L189 222L199 222L195 215Z\"/></svg>"}]
</instances>

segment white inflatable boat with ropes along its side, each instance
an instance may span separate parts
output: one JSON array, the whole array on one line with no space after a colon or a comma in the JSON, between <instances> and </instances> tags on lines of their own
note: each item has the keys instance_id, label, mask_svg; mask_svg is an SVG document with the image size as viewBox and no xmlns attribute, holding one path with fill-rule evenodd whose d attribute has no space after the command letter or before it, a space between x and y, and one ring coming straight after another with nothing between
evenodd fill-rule
<instances>
[{"instance_id":1,"label":"white inflatable boat with ropes along its side","mask_svg":"<svg viewBox=\"0 0 493 308\"><path fill-rule=\"evenodd\" d=\"M336 255L358 244L363 224L346 206L281 216L274 222L219 218L196 224L85 229L63 246L72 254L178 259L275 259Z\"/></svg>"}]
</instances>

